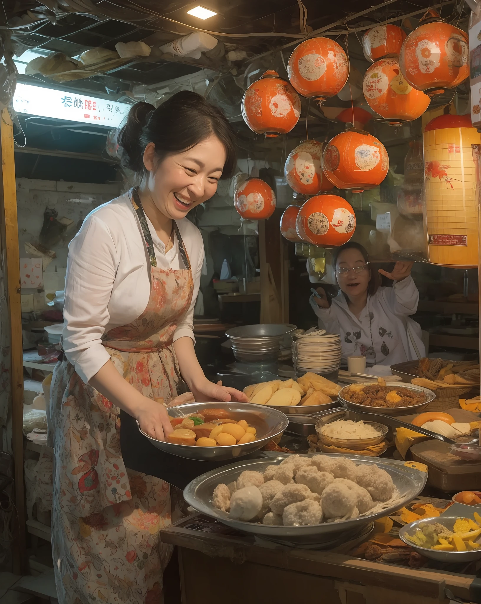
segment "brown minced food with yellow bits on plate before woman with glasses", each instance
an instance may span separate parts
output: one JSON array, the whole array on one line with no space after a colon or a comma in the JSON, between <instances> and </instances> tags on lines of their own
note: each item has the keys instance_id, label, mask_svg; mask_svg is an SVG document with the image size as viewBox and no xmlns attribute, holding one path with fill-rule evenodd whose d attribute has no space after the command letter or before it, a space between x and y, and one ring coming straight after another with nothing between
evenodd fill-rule
<instances>
[{"instance_id":1,"label":"brown minced food with yellow bits on plate before woman with glasses","mask_svg":"<svg viewBox=\"0 0 481 604\"><path fill-rule=\"evenodd\" d=\"M380 377L377 384L352 384L343 393L346 400L368 407L410 407L426 400L424 392L409 390L403 386L387 386Z\"/></svg>"}]
</instances>

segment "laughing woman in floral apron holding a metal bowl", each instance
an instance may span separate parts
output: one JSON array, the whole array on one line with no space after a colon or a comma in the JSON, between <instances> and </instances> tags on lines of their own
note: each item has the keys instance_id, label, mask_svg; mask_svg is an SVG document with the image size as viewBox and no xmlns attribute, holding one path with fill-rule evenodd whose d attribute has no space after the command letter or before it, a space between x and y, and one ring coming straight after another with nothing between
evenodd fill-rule
<instances>
[{"instance_id":1,"label":"laughing woman in floral apron holding a metal bowl","mask_svg":"<svg viewBox=\"0 0 481 604\"><path fill-rule=\"evenodd\" d=\"M69 245L64 355L51 387L52 542L68 604L117 601L114 583L126 586L117 593L124 602L162 600L171 550L158 535L170 524L169 485L125 467L120 410L164 440L168 404L247 402L209 382L194 352L204 250L186 214L235 167L228 121L183 91L157 109L135 104L119 144L139 186L89 214ZM191 392L177 396L180 376Z\"/></svg>"}]
</instances>

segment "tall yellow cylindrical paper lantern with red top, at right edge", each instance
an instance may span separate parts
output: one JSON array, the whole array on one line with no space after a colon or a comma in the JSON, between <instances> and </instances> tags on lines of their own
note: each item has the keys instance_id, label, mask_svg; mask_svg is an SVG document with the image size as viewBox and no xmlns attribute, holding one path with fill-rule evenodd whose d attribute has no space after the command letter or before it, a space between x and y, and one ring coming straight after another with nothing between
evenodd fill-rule
<instances>
[{"instance_id":1,"label":"tall yellow cylindrical paper lantern with red top, at right edge","mask_svg":"<svg viewBox=\"0 0 481 604\"><path fill-rule=\"evenodd\" d=\"M480 134L469 115L440 115L424 130L425 207L429 262L478 264L476 185Z\"/></svg>"}]
</instances>

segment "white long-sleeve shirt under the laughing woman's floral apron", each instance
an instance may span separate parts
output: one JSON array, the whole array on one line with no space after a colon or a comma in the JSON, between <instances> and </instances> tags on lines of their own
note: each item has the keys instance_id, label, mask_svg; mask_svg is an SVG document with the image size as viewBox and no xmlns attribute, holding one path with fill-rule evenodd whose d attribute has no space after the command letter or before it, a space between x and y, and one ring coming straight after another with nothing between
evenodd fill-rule
<instances>
[{"instance_id":1,"label":"white long-sleeve shirt under the laughing woman's floral apron","mask_svg":"<svg viewBox=\"0 0 481 604\"><path fill-rule=\"evenodd\" d=\"M146 217L147 218L147 217ZM188 336L194 341L194 306L204 262L199 229L183 218L177 220L189 257L194 281L190 308L177 325L174 341ZM148 228L157 259L163 269L186 268L177 238L165 252L152 223ZM69 244L63 310L63 350L75 371L88 382L109 360L101 338L114 327L138 318L150 297L150 259L144 235L129 194L112 199L92 211Z\"/></svg>"}]
</instances>

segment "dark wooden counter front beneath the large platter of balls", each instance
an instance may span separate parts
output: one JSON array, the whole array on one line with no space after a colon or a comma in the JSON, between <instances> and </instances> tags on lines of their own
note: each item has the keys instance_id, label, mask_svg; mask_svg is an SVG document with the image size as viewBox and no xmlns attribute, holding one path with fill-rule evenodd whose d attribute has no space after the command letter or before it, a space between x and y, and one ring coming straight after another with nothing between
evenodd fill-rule
<instances>
[{"instance_id":1,"label":"dark wooden counter front beneath the large platter of balls","mask_svg":"<svg viewBox=\"0 0 481 604\"><path fill-rule=\"evenodd\" d=\"M193 515L165 528L177 545L182 604L435 604L454 597L481 602L474 574L419 570L369 562L337 551L303 550L229 533L218 522L197 525ZM459 569L460 570L460 569Z\"/></svg>"}]
</instances>

